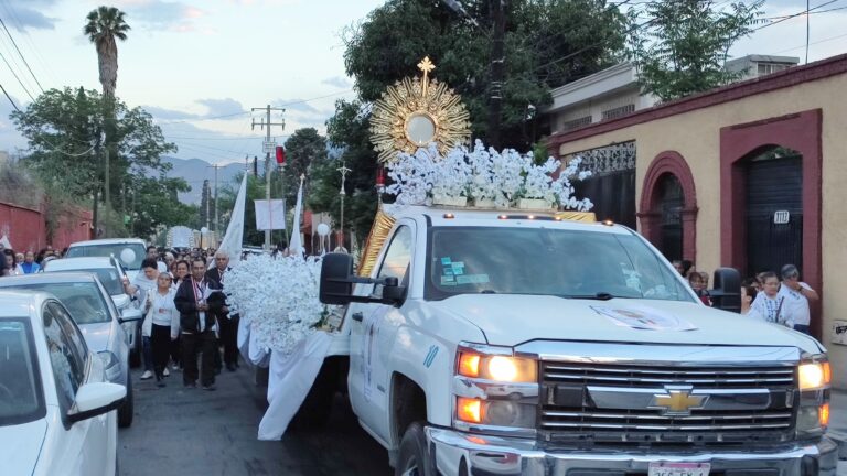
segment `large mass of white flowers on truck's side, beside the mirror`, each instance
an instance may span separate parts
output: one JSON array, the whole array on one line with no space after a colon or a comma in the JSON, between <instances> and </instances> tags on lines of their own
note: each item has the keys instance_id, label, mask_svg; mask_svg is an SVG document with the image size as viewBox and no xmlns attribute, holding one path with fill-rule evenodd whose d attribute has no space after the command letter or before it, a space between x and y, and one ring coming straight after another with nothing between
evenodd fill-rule
<instances>
[{"instance_id":1,"label":"large mass of white flowers on truck's side, beside the mirror","mask_svg":"<svg viewBox=\"0 0 847 476\"><path fill-rule=\"evenodd\" d=\"M288 355L305 340L324 315L318 299L321 261L300 256L259 255L238 262L226 274L225 289L256 343Z\"/></svg>"}]
</instances>

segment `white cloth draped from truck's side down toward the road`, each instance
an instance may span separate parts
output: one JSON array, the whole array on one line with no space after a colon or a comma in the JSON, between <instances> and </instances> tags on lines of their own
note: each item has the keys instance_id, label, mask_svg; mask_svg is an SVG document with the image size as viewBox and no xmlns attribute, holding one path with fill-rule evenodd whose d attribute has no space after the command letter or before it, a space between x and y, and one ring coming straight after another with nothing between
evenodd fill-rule
<instances>
[{"instance_id":1,"label":"white cloth draped from truck's side down toward the road","mask_svg":"<svg viewBox=\"0 0 847 476\"><path fill-rule=\"evenodd\" d=\"M332 337L319 331L310 335L288 356L270 355L268 410L259 423L259 440L279 440L309 394L321 371Z\"/></svg>"}]
</instances>

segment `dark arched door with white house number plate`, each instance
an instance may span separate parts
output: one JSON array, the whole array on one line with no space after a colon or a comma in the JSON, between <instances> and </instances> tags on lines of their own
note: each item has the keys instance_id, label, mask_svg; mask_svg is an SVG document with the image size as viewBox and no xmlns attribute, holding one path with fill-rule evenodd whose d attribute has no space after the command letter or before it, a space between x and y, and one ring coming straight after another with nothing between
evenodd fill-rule
<instances>
[{"instance_id":1,"label":"dark arched door with white house number plate","mask_svg":"<svg viewBox=\"0 0 847 476\"><path fill-rule=\"evenodd\" d=\"M770 145L744 164L747 274L803 269L803 155Z\"/></svg>"}]
</instances>

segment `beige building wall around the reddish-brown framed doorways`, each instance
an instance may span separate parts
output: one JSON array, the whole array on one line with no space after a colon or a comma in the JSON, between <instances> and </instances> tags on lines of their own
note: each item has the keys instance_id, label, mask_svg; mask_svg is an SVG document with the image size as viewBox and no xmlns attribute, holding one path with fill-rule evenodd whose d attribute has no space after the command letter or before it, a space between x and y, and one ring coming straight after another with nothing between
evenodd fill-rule
<instances>
[{"instance_id":1,"label":"beige building wall around the reddish-brown framed doorways","mask_svg":"<svg viewBox=\"0 0 847 476\"><path fill-rule=\"evenodd\" d=\"M560 155L635 140L635 204L640 206L644 175L664 151L685 158L697 190L696 266L710 271L720 263L720 129L772 117L823 109L823 342L833 361L834 379L847 388L847 346L829 343L832 322L847 320L847 75L804 83L792 88L748 96L568 142ZM641 210L639 210L641 212Z\"/></svg>"}]
</instances>

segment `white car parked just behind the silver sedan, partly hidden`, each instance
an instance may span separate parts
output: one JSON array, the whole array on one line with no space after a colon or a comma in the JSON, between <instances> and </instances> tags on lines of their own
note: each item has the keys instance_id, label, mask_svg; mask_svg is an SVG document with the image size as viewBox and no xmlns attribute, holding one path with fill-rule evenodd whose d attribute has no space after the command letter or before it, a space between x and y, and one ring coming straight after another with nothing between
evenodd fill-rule
<instances>
[{"instance_id":1,"label":"white car parked just behind the silver sedan, partly hidden","mask_svg":"<svg viewBox=\"0 0 847 476\"><path fill-rule=\"evenodd\" d=\"M106 292L118 309L121 326L127 333L129 363L132 367L141 365L141 310L132 305L131 298L124 291L124 279L129 280L126 269L114 257L63 258L44 264L44 272L84 271L100 280Z\"/></svg>"}]
</instances>

